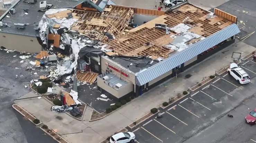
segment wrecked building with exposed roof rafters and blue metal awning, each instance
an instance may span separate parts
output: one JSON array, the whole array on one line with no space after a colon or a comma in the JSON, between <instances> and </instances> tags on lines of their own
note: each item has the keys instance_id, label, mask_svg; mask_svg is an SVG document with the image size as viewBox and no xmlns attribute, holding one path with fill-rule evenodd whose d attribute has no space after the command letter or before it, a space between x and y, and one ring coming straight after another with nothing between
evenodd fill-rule
<instances>
[{"instance_id":1,"label":"wrecked building with exposed roof rafters and blue metal awning","mask_svg":"<svg viewBox=\"0 0 256 143\"><path fill-rule=\"evenodd\" d=\"M77 80L97 81L101 94L118 101L142 95L234 43L240 32L236 22L231 14L188 1L163 12L113 4L101 8L84 0L45 11L37 40L51 54L72 53L55 73L74 69Z\"/></svg>"}]
</instances>

